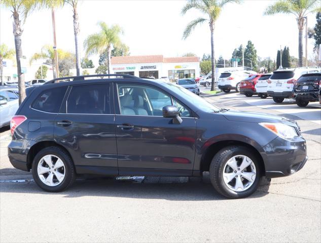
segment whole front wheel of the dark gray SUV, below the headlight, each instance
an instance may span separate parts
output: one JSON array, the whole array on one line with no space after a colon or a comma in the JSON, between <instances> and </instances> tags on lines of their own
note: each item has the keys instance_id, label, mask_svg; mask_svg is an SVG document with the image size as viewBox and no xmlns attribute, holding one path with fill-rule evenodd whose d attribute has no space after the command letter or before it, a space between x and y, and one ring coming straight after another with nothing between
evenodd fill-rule
<instances>
[{"instance_id":1,"label":"whole front wheel of the dark gray SUV, below the headlight","mask_svg":"<svg viewBox=\"0 0 321 243\"><path fill-rule=\"evenodd\" d=\"M229 146L221 149L209 167L210 181L223 196L247 197L254 193L262 178L259 158L248 148Z\"/></svg>"}]
</instances>

